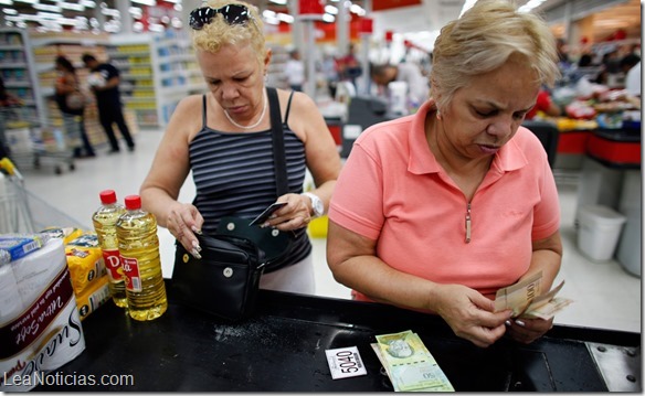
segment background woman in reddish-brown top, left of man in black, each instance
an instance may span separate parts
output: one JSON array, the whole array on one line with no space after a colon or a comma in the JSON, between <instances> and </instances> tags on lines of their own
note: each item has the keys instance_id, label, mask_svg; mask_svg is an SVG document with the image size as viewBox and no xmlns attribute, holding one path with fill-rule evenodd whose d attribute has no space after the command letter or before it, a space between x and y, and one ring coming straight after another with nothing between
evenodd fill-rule
<instances>
[{"instance_id":1,"label":"background woman in reddish-brown top, left of man in black","mask_svg":"<svg viewBox=\"0 0 645 396\"><path fill-rule=\"evenodd\" d=\"M76 75L76 67L65 56L56 57L55 62L59 77L54 87L54 98L63 116L63 127L67 136L67 141L72 142L74 158L96 157L94 148L87 138L85 130L85 106L73 109L67 106L67 95L80 90L78 76ZM83 147L81 147L81 140ZM85 153L83 153L85 150Z\"/></svg>"}]
</instances>

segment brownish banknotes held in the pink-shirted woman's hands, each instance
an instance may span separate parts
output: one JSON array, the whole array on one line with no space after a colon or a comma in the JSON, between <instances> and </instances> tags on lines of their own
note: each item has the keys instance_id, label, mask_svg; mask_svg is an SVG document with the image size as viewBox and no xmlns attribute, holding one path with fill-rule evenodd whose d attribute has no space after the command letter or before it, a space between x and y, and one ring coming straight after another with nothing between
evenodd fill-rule
<instances>
[{"instance_id":1,"label":"brownish banknotes held in the pink-shirted woman's hands","mask_svg":"<svg viewBox=\"0 0 645 396\"><path fill-rule=\"evenodd\" d=\"M540 318L549 320L573 300L558 298L564 281L547 293L542 293L542 272L537 272L515 285L497 290L495 311L512 310L512 318Z\"/></svg>"}]
</instances>

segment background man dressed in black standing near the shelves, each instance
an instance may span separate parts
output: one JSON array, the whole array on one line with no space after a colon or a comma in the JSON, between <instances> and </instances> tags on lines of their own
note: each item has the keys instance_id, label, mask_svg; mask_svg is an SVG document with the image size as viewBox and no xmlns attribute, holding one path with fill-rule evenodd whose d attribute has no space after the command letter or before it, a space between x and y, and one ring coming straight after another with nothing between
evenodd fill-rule
<instances>
[{"instance_id":1,"label":"background man dressed in black standing near the shelves","mask_svg":"<svg viewBox=\"0 0 645 396\"><path fill-rule=\"evenodd\" d=\"M126 139L128 150L135 151L135 141L124 118L120 101L120 92L118 88L120 82L119 71L109 63L99 63L92 54L84 54L83 63L85 63L85 66L91 72L87 83L96 96L98 118L112 148L109 153L120 151L113 129L113 124L115 122L121 136Z\"/></svg>"}]
</instances>

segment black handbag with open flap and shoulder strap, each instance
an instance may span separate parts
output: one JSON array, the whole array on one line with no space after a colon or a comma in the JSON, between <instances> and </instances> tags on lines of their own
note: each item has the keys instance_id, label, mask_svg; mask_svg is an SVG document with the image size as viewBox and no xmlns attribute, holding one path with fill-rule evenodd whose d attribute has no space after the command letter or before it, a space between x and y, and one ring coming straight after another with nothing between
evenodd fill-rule
<instances>
[{"instance_id":1,"label":"black handbag with open flap and shoulder strap","mask_svg":"<svg viewBox=\"0 0 645 396\"><path fill-rule=\"evenodd\" d=\"M275 88L267 88L267 95L279 196L288 191L282 116ZM249 226L250 222L225 217L218 234L198 235L201 259L177 243L172 291L178 300L229 321L240 321L253 313L260 278L271 263L288 253L293 233L276 234L277 229ZM228 226L222 227L223 224Z\"/></svg>"}]
</instances>

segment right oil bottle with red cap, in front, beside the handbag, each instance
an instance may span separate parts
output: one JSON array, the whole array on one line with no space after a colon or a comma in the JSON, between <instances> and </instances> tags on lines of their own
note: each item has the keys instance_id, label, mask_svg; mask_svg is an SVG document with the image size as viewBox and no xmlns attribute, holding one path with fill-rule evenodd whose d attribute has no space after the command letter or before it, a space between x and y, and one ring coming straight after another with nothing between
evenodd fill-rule
<instances>
[{"instance_id":1,"label":"right oil bottle with red cap, in front, beside the handbag","mask_svg":"<svg viewBox=\"0 0 645 396\"><path fill-rule=\"evenodd\" d=\"M118 250L126 281L128 311L135 320L159 318L168 308L161 275L157 218L141 210L141 197L125 199L126 213L116 223Z\"/></svg>"}]
</instances>

